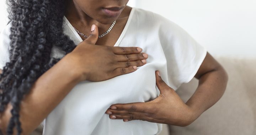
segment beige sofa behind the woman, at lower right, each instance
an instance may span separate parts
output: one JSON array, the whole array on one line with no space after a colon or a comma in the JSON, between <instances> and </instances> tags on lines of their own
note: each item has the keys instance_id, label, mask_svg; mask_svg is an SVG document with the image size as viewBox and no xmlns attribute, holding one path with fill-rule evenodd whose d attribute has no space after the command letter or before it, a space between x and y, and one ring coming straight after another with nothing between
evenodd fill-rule
<instances>
[{"instance_id":1,"label":"beige sofa behind the woman, at lower right","mask_svg":"<svg viewBox=\"0 0 256 135\"><path fill-rule=\"evenodd\" d=\"M256 135L256 59L216 59L229 75L222 98L191 125L164 125L161 135ZM186 102L197 84L193 79L176 92ZM32 135L42 135L42 128Z\"/></svg>"}]
</instances>

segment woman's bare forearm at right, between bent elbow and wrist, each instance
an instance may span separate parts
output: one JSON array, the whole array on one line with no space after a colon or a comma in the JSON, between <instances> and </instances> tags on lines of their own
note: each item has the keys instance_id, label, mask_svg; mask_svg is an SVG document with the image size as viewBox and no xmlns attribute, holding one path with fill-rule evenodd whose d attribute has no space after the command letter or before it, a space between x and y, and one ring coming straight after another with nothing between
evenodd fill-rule
<instances>
[{"instance_id":1,"label":"woman's bare forearm at right, between bent elbow and wrist","mask_svg":"<svg viewBox=\"0 0 256 135\"><path fill-rule=\"evenodd\" d=\"M203 74L199 78L197 90L186 102L186 104L192 109L191 123L222 97L226 89L227 81L228 75L222 66Z\"/></svg>"}]
</instances>

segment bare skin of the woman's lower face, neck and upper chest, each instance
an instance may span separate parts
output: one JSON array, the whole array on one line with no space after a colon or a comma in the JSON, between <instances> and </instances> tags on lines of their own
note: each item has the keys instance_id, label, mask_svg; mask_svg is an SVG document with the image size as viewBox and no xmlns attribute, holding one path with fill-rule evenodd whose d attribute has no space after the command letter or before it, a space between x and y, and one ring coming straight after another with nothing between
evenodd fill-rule
<instances>
[{"instance_id":1,"label":"bare skin of the woman's lower face, neck and upper chest","mask_svg":"<svg viewBox=\"0 0 256 135\"><path fill-rule=\"evenodd\" d=\"M131 7L125 6L127 2L128 0L119 0L114 2L113 0L70 0L68 4L68 12L65 16L73 27L87 36L90 34L91 25L97 25L99 34L102 34L106 32L106 30L110 28L111 24L116 20L116 24L110 33L106 34L104 37L98 38L96 42L97 45L114 46L120 37L128 20L130 11L132 10ZM87 8L87 6L90 8ZM104 13L102 13L101 8L113 6L125 7L119 16L106 18ZM79 36L82 40L86 39L81 35Z\"/></svg>"}]
</instances>

